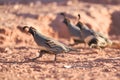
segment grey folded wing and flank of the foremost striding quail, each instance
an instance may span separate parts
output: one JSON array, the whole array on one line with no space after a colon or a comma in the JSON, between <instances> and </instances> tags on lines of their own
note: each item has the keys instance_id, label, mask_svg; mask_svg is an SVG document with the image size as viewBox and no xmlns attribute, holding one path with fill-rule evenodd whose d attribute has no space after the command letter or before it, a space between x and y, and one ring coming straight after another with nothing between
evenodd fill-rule
<instances>
[{"instance_id":1,"label":"grey folded wing and flank of the foremost striding quail","mask_svg":"<svg viewBox=\"0 0 120 80\"><path fill-rule=\"evenodd\" d=\"M50 50L51 52L67 52L69 51L69 48L65 46L64 44L41 35L39 32L35 35L35 40L38 45L45 47L46 49Z\"/></svg>"}]
</instances>

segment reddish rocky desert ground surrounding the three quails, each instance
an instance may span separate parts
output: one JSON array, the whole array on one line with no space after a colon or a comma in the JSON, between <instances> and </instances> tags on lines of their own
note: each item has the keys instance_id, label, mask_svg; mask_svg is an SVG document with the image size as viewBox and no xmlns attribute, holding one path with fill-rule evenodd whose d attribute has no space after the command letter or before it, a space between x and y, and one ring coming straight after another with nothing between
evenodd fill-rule
<instances>
[{"instance_id":1,"label":"reddish rocky desert ground surrounding the three quails","mask_svg":"<svg viewBox=\"0 0 120 80\"><path fill-rule=\"evenodd\" d=\"M72 37L59 13L81 21L113 41L103 50L84 44L78 51L38 56L39 47L22 27L33 26L66 45ZM119 0L0 0L0 80L120 80Z\"/></svg>"}]
</instances>

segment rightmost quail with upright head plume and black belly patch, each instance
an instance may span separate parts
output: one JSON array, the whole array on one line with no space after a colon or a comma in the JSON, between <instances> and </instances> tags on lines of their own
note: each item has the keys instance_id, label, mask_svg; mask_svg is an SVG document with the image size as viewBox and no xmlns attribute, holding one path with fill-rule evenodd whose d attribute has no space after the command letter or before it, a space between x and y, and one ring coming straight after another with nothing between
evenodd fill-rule
<instances>
[{"instance_id":1,"label":"rightmost quail with upright head plume and black belly patch","mask_svg":"<svg viewBox=\"0 0 120 80\"><path fill-rule=\"evenodd\" d=\"M79 27L82 39L88 44L91 48L105 48L112 45L112 41L106 38L102 33L96 32L80 21L80 14L78 14L78 22L76 24Z\"/></svg>"}]
</instances>

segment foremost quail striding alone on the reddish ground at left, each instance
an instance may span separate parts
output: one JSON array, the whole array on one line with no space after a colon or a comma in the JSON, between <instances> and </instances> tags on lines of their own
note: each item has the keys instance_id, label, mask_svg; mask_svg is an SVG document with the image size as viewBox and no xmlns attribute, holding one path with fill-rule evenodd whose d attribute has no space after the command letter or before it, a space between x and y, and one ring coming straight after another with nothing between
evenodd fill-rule
<instances>
[{"instance_id":1,"label":"foremost quail striding alone on the reddish ground at left","mask_svg":"<svg viewBox=\"0 0 120 80\"><path fill-rule=\"evenodd\" d=\"M75 51L75 49L73 49L57 40L54 40L52 38L42 35L37 29L35 29L32 26L31 27L24 26L23 30L25 30L26 28L28 28L28 32L32 34L34 41L40 48L39 56L33 58L32 60L36 60L37 58L42 57L42 55L44 53L49 53L49 54L55 55L54 61L56 61L57 54Z\"/></svg>"}]
</instances>

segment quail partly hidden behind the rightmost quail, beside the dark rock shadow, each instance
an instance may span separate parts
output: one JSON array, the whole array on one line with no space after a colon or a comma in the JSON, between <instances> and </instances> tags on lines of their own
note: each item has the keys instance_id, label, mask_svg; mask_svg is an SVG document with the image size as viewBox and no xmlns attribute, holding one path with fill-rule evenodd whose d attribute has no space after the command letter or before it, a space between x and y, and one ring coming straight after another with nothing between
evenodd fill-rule
<instances>
[{"instance_id":1,"label":"quail partly hidden behind the rightmost quail, beside the dark rock shadow","mask_svg":"<svg viewBox=\"0 0 120 80\"><path fill-rule=\"evenodd\" d=\"M60 13L60 15L64 17L63 23L67 26L69 33L71 37L73 37L75 44L84 43L84 40L82 40L81 38L81 33L79 28L70 22L70 20L65 16L64 12Z\"/></svg>"}]
</instances>

